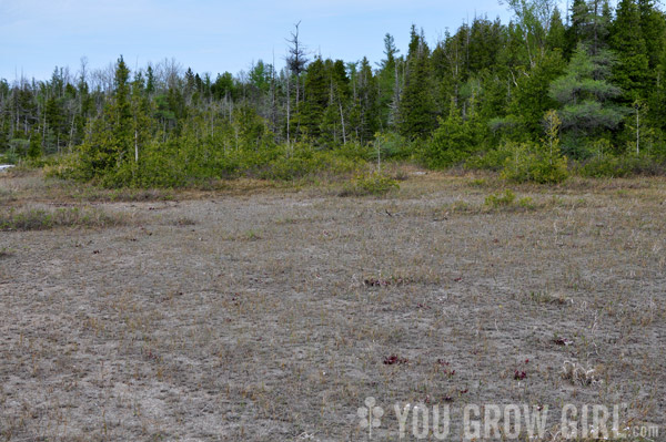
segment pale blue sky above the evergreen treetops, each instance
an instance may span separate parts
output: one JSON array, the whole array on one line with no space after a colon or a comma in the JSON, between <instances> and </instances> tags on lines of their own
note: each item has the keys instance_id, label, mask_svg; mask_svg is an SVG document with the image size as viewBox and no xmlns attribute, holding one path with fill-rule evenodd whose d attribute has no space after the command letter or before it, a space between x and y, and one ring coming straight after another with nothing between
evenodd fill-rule
<instances>
[{"instance_id":1,"label":"pale blue sky above the evergreen treetops","mask_svg":"<svg viewBox=\"0 0 666 442\"><path fill-rule=\"evenodd\" d=\"M258 60L280 69L296 22L310 59L376 63L386 33L405 53L412 24L434 44L475 16L511 18L497 0L0 0L0 79L75 74L82 58L90 71L121 54L132 70L175 59L213 79Z\"/></svg>"}]
</instances>

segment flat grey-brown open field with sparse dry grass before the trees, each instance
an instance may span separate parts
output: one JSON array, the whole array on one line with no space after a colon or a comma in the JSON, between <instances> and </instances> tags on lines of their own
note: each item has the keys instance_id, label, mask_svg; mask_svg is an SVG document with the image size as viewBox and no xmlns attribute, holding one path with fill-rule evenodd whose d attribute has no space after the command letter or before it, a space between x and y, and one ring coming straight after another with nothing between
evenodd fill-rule
<instances>
[{"instance_id":1,"label":"flat grey-brown open field with sparse dry grass before the trees","mask_svg":"<svg viewBox=\"0 0 666 442\"><path fill-rule=\"evenodd\" d=\"M405 175L384 197L0 175L0 441L362 441L367 397L372 440L396 402L450 405L448 440L468 403L548 405L546 441L564 403L624 403L664 438L666 181L503 199Z\"/></svg>"}]
</instances>

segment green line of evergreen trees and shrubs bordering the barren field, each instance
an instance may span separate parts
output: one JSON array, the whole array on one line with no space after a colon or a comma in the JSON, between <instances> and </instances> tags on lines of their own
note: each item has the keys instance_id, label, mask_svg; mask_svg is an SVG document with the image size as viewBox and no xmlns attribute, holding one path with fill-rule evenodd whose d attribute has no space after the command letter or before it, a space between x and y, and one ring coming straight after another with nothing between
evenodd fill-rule
<instances>
[{"instance_id":1,"label":"green line of evergreen trees and shrubs bordering the barren field","mask_svg":"<svg viewBox=\"0 0 666 442\"><path fill-rule=\"evenodd\" d=\"M175 61L49 81L0 81L0 153L107 185L182 185L351 171L379 154L430 167L557 182L659 173L666 157L666 16L653 0L508 0L432 48L411 29L372 65L310 54L297 25L284 68L211 78ZM59 156L62 158L63 156Z\"/></svg>"}]
</instances>

